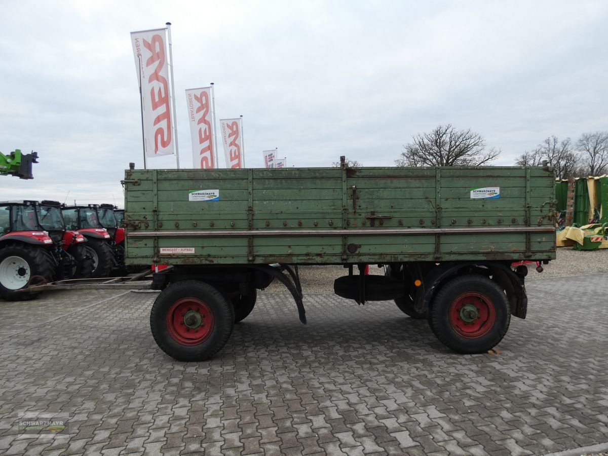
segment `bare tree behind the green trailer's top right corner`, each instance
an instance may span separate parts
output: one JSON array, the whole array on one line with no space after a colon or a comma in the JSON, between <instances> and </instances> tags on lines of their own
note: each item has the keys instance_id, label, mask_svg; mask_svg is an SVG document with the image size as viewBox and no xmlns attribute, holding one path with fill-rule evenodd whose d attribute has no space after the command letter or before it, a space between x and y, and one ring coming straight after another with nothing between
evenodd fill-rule
<instances>
[{"instance_id":1,"label":"bare tree behind the green trailer's top right corner","mask_svg":"<svg viewBox=\"0 0 608 456\"><path fill-rule=\"evenodd\" d=\"M570 138L559 141L558 137L550 136L533 151L526 151L517 157L515 164L539 166L545 160L553 166L559 179L567 179L578 174L580 157L573 150Z\"/></svg>"}]
</instances>

